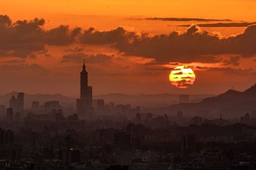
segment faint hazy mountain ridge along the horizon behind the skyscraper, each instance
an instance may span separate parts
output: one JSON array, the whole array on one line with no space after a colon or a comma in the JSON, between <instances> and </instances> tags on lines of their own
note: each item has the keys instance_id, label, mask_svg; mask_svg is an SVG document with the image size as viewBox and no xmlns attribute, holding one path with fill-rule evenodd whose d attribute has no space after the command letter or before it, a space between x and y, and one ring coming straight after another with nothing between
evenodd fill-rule
<instances>
[{"instance_id":1,"label":"faint hazy mountain ridge along the horizon behind the skyscraper","mask_svg":"<svg viewBox=\"0 0 256 170\"><path fill-rule=\"evenodd\" d=\"M17 92L10 92L0 96L0 104L9 106L9 99L14 95L17 96ZM199 102L205 97L212 97L212 94L197 94L191 95L190 101ZM93 96L93 99L104 99L105 103L115 104L131 104L132 106L147 106L147 107L163 107L170 106L170 104L176 104L179 95L178 94L141 94L141 95L128 95L128 94L104 94L99 96ZM63 96L61 94L25 94L25 108L31 108L33 101L39 101L40 104L44 104L45 101L60 101L63 106L72 106L75 108L76 99L72 97Z\"/></svg>"}]
</instances>

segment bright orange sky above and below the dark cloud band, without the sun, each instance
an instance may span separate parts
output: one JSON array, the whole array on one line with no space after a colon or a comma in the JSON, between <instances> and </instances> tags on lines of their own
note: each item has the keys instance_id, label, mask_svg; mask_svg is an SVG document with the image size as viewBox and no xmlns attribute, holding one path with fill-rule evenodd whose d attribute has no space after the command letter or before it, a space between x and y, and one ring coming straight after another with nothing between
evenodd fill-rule
<instances>
[{"instance_id":1,"label":"bright orange sky above and below the dark cloud band, without the sun","mask_svg":"<svg viewBox=\"0 0 256 170\"><path fill-rule=\"evenodd\" d=\"M255 22L256 1L3 0L0 1L0 11L0 15L8 15L13 23L17 20L33 20L35 17L44 18L45 24L42 25L42 28L45 31L62 24L70 25L70 30L74 27L81 27L82 30L95 27L95 30L100 32L123 27L128 32L136 32L136 34L147 32L148 38L150 38L157 34L169 34L173 31L185 34L184 32L188 30L188 27L179 27L178 25ZM230 21L202 22L192 20L177 22L144 19L150 17L229 19ZM208 31L211 34L218 34L221 38L225 38L242 34L244 29L246 27L201 27L199 32ZM247 36L244 37L247 41ZM195 43L196 41L198 40L195 40ZM248 41L254 42L250 38ZM179 41L177 42L179 43ZM172 43L172 41L169 43ZM92 45L75 42L68 45L52 45L49 43L43 43L43 45L46 51L39 52L40 50L36 50L29 53L29 55L33 54L36 57L29 57L29 55L23 57L3 55L0 57L0 78L3 81L0 94L15 90L28 93L61 93L68 96L77 96L81 63L70 59L70 55L71 58L76 59L81 57L77 55L88 57L89 81L93 85L93 94L112 92L127 94L157 94L163 92L218 94L232 86L236 87L237 90L244 90L255 83L256 80L254 70L256 66L255 53L252 50L250 56L247 55L247 48L251 48L250 43L248 45L247 42L241 49L241 45L228 50L218 47L220 52L216 53L214 51L205 52L203 46L198 48L199 50L197 49L195 55L205 55L207 61L195 56L195 60L189 59L189 55L182 52L182 50L180 50L180 53L179 50L173 52L170 57L165 53L159 53L158 56L157 52L151 55L151 53L144 51L147 49L143 49L143 46L139 49L140 52L134 53L124 49L124 46L115 48L108 44ZM141 45L143 45L142 40ZM209 45L212 44L209 43ZM165 46L164 42L163 46ZM75 49L78 48L83 48L83 50L77 52ZM150 51L150 47L148 48L148 51ZM241 52L237 52L236 48ZM191 52L195 51L189 47L184 48L184 50L186 49L191 50ZM8 52L13 50L15 49ZM168 45L166 45L166 50L168 50ZM98 56L99 54L100 56ZM68 60L64 60L65 55L66 57L69 56ZM212 57L213 55L214 57ZM216 60L218 58L218 61L214 58ZM149 63L154 60L158 60L159 63L150 65ZM171 62L194 67L196 80L193 87L180 90L170 85L168 76L172 68L175 67Z\"/></svg>"}]
</instances>

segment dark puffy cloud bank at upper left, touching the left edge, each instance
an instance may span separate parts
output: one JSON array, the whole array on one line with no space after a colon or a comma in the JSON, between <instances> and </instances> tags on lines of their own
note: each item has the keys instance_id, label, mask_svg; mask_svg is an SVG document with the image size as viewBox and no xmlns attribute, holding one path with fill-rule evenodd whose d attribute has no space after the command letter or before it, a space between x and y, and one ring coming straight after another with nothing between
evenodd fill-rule
<instances>
[{"instance_id":1,"label":"dark puffy cloud bank at upper left, touching the left edge","mask_svg":"<svg viewBox=\"0 0 256 170\"><path fill-rule=\"evenodd\" d=\"M0 15L0 57L26 58L34 52L45 52L45 45L68 45L76 41L81 29L70 30L61 25L46 31L45 20L18 20L12 22L6 15Z\"/></svg>"}]
</instances>

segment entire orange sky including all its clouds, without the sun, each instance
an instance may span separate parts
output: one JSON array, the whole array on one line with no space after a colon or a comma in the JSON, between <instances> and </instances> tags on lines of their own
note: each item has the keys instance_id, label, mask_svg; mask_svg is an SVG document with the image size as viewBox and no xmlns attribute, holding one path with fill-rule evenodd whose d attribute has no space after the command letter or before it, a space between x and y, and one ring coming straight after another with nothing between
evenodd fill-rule
<instances>
[{"instance_id":1,"label":"entire orange sky including all its clouds, without the sun","mask_svg":"<svg viewBox=\"0 0 256 170\"><path fill-rule=\"evenodd\" d=\"M216 95L253 85L255 2L193 3L198 13L185 1L1 1L0 94L78 97L84 58L95 95ZM224 10L228 5L237 12ZM177 89L168 77L183 65L196 80Z\"/></svg>"}]
</instances>

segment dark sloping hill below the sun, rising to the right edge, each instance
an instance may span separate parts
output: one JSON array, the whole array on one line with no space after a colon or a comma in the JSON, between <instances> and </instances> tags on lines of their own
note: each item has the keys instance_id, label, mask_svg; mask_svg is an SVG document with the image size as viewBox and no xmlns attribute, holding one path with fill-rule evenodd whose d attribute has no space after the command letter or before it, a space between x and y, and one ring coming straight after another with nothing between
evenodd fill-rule
<instances>
[{"instance_id":1,"label":"dark sloping hill below the sun, rising to the right edge","mask_svg":"<svg viewBox=\"0 0 256 170\"><path fill-rule=\"evenodd\" d=\"M225 117L240 117L246 112L251 113L256 110L256 84L244 92L228 90L216 97L207 97L199 103L174 104L158 111L173 114L183 111L186 115L193 116L202 110L209 111L213 117L219 117L220 114Z\"/></svg>"}]
</instances>

